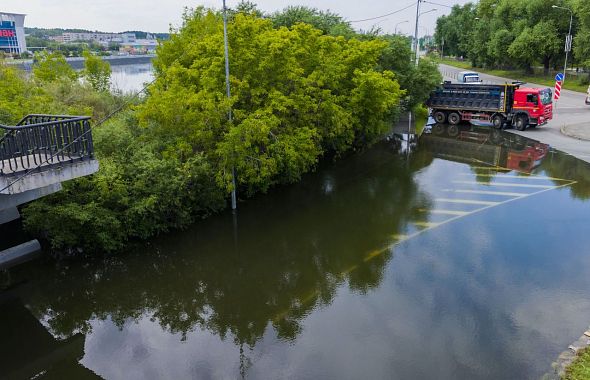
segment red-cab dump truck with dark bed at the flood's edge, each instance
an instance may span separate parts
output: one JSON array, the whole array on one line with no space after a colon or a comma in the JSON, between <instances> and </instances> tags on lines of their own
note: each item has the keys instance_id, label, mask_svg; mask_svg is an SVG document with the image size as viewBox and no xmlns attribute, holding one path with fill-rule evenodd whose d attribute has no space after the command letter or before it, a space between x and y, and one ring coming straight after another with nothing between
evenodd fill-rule
<instances>
[{"instance_id":1,"label":"red-cab dump truck with dark bed at the flood's edge","mask_svg":"<svg viewBox=\"0 0 590 380\"><path fill-rule=\"evenodd\" d=\"M426 105L437 123L457 125L462 121L505 124L519 131L543 125L553 118L550 88L526 88L523 83L470 85L445 82L430 94Z\"/></svg>"}]
</instances>

